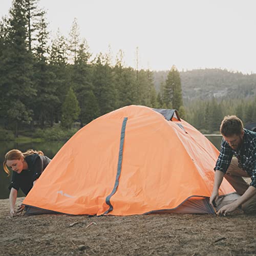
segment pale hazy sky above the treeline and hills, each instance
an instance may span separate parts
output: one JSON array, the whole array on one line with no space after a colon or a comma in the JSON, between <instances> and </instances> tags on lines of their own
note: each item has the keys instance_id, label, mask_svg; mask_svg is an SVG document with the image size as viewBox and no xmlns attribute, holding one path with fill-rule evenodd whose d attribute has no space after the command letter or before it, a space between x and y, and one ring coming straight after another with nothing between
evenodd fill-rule
<instances>
[{"instance_id":1,"label":"pale hazy sky above the treeline and hills","mask_svg":"<svg viewBox=\"0 0 256 256\"><path fill-rule=\"evenodd\" d=\"M0 15L11 0L0 0ZM94 56L124 51L126 66L226 68L256 73L254 0L41 0L49 29L68 35L76 17Z\"/></svg>"}]
</instances>

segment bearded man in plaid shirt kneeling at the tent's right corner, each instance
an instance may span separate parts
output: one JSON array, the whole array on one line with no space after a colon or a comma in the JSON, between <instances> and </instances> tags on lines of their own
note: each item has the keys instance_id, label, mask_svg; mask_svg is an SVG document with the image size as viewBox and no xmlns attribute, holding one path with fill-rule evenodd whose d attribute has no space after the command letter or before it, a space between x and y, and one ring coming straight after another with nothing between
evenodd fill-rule
<instances>
[{"instance_id":1,"label":"bearded man in plaid shirt kneeling at the tent's right corner","mask_svg":"<svg viewBox=\"0 0 256 256\"><path fill-rule=\"evenodd\" d=\"M213 206L218 200L219 187L225 177L241 197L223 206L217 214L226 215L240 205L244 212L256 213L256 133L244 129L242 121L236 116L224 117L220 131L223 139L214 168L210 204ZM250 177L251 183L248 184L242 177Z\"/></svg>"}]
</instances>

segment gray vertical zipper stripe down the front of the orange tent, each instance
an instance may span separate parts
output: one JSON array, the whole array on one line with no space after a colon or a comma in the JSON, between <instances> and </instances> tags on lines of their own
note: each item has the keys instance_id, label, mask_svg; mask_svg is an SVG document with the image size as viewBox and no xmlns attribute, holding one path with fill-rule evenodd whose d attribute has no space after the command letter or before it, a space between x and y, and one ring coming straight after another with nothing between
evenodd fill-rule
<instances>
[{"instance_id":1,"label":"gray vertical zipper stripe down the front of the orange tent","mask_svg":"<svg viewBox=\"0 0 256 256\"><path fill-rule=\"evenodd\" d=\"M110 202L110 198L116 193L117 187L119 185L119 177L121 174L121 168L122 168L122 160L123 160L123 142L124 142L124 135L125 135L125 128L126 128L126 122L127 122L127 117L124 117L123 123L122 123L122 129L121 129L121 138L120 138L120 146L119 146L119 156L118 156L118 165L117 165L117 174L116 174L116 181L114 188L111 192L111 194L106 197L106 204L110 206L108 210L104 212L104 214L108 214L110 211L113 210L113 206Z\"/></svg>"}]
</instances>

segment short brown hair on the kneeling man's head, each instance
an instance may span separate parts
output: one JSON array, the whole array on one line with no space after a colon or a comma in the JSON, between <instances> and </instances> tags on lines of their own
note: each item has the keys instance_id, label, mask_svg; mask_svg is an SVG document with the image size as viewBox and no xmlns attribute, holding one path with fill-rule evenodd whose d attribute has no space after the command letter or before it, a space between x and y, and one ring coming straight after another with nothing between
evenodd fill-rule
<instances>
[{"instance_id":1,"label":"short brown hair on the kneeling man's head","mask_svg":"<svg viewBox=\"0 0 256 256\"><path fill-rule=\"evenodd\" d=\"M240 135L243 129L243 122L237 116L225 116L221 122L220 131L226 137Z\"/></svg>"}]
</instances>

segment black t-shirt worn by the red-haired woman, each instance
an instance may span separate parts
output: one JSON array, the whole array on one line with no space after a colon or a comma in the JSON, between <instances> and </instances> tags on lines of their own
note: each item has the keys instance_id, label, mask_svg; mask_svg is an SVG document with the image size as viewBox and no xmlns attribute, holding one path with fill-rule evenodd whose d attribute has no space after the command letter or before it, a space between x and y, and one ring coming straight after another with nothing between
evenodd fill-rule
<instances>
[{"instance_id":1,"label":"black t-shirt worn by the red-haired woman","mask_svg":"<svg viewBox=\"0 0 256 256\"><path fill-rule=\"evenodd\" d=\"M47 156L33 154L26 156L25 160L28 163L28 169L22 170L20 174L12 172L12 181L9 185L9 189L13 187L18 190L20 188L27 196L30 189L33 187L33 182L44 172L44 169L50 163L51 159Z\"/></svg>"}]
</instances>

